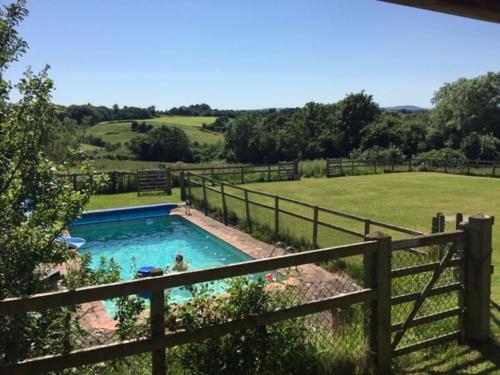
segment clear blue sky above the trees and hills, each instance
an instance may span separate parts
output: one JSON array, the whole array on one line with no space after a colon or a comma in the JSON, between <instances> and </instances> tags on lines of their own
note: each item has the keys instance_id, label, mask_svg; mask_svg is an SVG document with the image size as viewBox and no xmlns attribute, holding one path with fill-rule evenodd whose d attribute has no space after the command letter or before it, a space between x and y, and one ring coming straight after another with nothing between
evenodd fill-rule
<instances>
[{"instance_id":1,"label":"clear blue sky above the trees and hills","mask_svg":"<svg viewBox=\"0 0 500 375\"><path fill-rule=\"evenodd\" d=\"M5 4L6 0L1 0ZM54 101L159 109L302 106L365 90L430 106L443 82L500 70L500 25L375 0L31 0L30 49Z\"/></svg>"}]
</instances>

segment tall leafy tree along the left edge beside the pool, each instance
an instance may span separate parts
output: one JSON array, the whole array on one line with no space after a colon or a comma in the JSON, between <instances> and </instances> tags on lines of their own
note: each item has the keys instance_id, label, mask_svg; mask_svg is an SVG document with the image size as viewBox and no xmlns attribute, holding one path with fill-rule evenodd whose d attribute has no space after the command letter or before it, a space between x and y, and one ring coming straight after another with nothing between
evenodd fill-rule
<instances>
[{"instance_id":1,"label":"tall leafy tree along the left edge beside the pool","mask_svg":"<svg viewBox=\"0 0 500 375\"><path fill-rule=\"evenodd\" d=\"M61 125L51 103L48 67L38 74L26 70L15 86L4 78L26 50L16 28L27 14L24 1L0 9L0 299L50 290L43 282L47 265L77 256L58 237L80 215L91 192L90 185L73 191L62 178L69 164L55 164L47 156ZM12 103L14 89L20 99ZM0 361L62 350L62 337L47 334L62 327L69 314L59 308L0 317Z\"/></svg>"}]
</instances>

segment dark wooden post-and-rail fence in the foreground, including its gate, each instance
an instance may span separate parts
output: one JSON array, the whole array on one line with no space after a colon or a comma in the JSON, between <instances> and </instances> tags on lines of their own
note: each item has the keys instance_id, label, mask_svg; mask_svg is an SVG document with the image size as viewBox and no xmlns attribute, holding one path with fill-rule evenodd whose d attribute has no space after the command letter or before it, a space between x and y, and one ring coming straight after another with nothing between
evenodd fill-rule
<instances>
[{"instance_id":1,"label":"dark wooden post-and-rail fence in the foreground, including its gate","mask_svg":"<svg viewBox=\"0 0 500 375\"><path fill-rule=\"evenodd\" d=\"M149 292L151 293L151 333L148 337L134 340L69 350L65 353L29 358L15 363L1 363L0 373L32 374L56 371L150 352L152 353L153 374L165 374L167 370L166 348L262 327L320 311L361 305L366 311L366 321L362 325L366 327L366 345L371 363L377 373L387 374L390 372L391 358L394 356L460 337L474 343L488 340L492 224L493 218L491 217L471 217L468 224L462 224L460 230L450 233L422 235L395 241L382 234L368 234L366 241L345 246L115 284L5 299L0 301L0 315L2 316L21 315L30 311L43 312L59 306ZM394 267L395 259L397 259L394 255L401 250L410 247L432 248L450 243L446 255L437 262ZM460 247L457 247L458 245ZM175 332L166 330L164 305L166 289L349 256L364 258L363 286L356 291L193 330ZM447 269L451 269L454 274L457 273L459 281L439 283ZM421 288L411 293L394 294L395 279L422 273L430 273L430 277L425 280ZM427 299L458 290L462 290L462 293L456 300L456 306L443 305L445 309L442 311L421 315L420 311ZM393 307L410 302L413 307L405 310L406 316L401 321L395 322ZM447 328L436 335L436 332L431 329L430 338L400 346L409 330L423 329L422 327L427 324L450 317L458 319L456 330Z\"/></svg>"}]
</instances>

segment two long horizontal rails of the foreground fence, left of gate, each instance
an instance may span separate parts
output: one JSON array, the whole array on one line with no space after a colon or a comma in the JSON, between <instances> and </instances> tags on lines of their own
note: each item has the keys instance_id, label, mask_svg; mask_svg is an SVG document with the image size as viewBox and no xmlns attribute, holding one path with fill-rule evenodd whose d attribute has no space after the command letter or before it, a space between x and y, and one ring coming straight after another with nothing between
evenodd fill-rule
<instances>
[{"instance_id":1,"label":"two long horizontal rails of the foreground fence, left of gate","mask_svg":"<svg viewBox=\"0 0 500 375\"><path fill-rule=\"evenodd\" d=\"M274 258L252 260L227 266L214 267L202 270L188 271L177 274L149 277L114 284L78 288L75 290L58 291L38 294L26 298L11 298L0 301L0 315L25 314L29 311L43 311L46 309L76 305L99 299L116 298L144 292L153 293L151 306L155 303L154 296L160 298L163 304L163 290L183 285L196 284L221 280L235 276L271 271L286 267L310 264L330 259L340 259L356 255L371 254L377 251L377 241L366 241L357 244L313 250L309 252L283 255ZM161 291L161 293L158 293ZM156 292L156 294L155 294ZM296 306L280 308L274 311L263 312L237 320L223 322L202 328L175 333L165 333L165 327L160 320L152 320L152 332L161 334L137 340L121 341L118 343L94 346L91 348L73 350L69 353L48 355L44 357L26 359L24 361L0 364L0 373L31 374L33 372L54 371L64 368L77 367L86 364L98 363L107 360L119 359L126 356L155 352L165 348L192 343L206 338L220 337L227 333L244 329L269 325L283 320L294 319L304 315L314 314L325 310L346 307L358 303L367 303L376 298L372 288L359 288L355 291L341 292L338 295L314 299ZM153 311L152 311L153 314ZM160 324L160 327L155 325ZM156 373L156 372L154 372ZM160 372L158 372L160 373Z\"/></svg>"}]
</instances>

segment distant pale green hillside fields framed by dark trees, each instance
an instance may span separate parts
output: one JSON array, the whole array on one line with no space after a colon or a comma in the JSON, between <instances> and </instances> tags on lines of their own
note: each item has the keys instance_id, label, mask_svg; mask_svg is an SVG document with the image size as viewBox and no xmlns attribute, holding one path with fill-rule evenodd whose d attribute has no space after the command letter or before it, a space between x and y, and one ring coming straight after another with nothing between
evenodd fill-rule
<instances>
[{"instance_id":1,"label":"distant pale green hillside fields framed by dark trees","mask_svg":"<svg viewBox=\"0 0 500 375\"><path fill-rule=\"evenodd\" d=\"M224 135L202 128L204 123L211 124L215 121L215 119L216 117L208 116L161 116L153 119L137 121L139 123L145 121L147 124L151 124L153 126L175 126L184 130L191 142L198 142L200 144L215 144L223 141ZM138 133L131 130L131 123L132 120L100 122L90 127L87 130L87 135L100 137L105 142L111 144L124 144L138 135Z\"/></svg>"}]
</instances>

